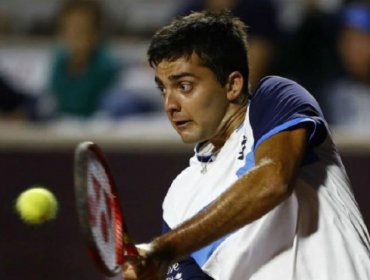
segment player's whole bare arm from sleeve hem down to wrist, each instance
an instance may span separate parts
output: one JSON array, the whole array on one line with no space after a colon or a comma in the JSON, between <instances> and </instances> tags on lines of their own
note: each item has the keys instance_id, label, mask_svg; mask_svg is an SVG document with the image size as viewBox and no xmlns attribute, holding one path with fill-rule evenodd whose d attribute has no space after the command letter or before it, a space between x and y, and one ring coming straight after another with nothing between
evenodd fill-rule
<instances>
[{"instance_id":1,"label":"player's whole bare arm from sleeve hem down to wrist","mask_svg":"<svg viewBox=\"0 0 370 280\"><path fill-rule=\"evenodd\" d=\"M269 212L292 192L307 129L281 132L256 150L256 166L206 210L150 244L147 262L171 263ZM160 267L160 265L158 265ZM146 278L145 278L146 279Z\"/></svg>"}]
</instances>

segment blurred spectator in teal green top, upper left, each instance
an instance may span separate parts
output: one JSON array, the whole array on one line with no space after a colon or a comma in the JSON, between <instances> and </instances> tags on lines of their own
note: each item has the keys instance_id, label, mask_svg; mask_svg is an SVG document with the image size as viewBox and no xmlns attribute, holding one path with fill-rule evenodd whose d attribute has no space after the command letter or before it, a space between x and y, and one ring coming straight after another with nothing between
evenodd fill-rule
<instances>
[{"instance_id":1,"label":"blurred spectator in teal green top, upper left","mask_svg":"<svg viewBox=\"0 0 370 280\"><path fill-rule=\"evenodd\" d=\"M56 116L90 117L114 87L121 65L104 42L103 24L99 2L64 2L48 82Z\"/></svg>"}]
</instances>

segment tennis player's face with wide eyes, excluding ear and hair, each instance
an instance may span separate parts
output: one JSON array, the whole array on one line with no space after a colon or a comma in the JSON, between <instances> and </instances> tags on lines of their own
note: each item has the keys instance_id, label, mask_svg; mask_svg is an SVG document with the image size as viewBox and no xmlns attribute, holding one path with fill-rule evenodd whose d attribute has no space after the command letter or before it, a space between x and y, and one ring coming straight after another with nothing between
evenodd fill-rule
<instances>
[{"instance_id":1,"label":"tennis player's face with wide eyes, excluding ear and hair","mask_svg":"<svg viewBox=\"0 0 370 280\"><path fill-rule=\"evenodd\" d=\"M212 142L219 136L230 103L227 85L222 86L209 68L200 65L197 55L160 62L155 80L168 119L185 143Z\"/></svg>"}]
</instances>

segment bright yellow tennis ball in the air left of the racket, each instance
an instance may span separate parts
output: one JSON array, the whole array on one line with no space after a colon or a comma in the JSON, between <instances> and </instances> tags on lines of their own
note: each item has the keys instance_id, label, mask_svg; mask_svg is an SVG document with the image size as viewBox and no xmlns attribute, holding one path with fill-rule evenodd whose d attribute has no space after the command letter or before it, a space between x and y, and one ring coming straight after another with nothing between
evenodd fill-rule
<instances>
[{"instance_id":1,"label":"bright yellow tennis ball in the air left of the racket","mask_svg":"<svg viewBox=\"0 0 370 280\"><path fill-rule=\"evenodd\" d=\"M18 196L15 208L24 222L41 224L55 218L58 202L48 189L34 187Z\"/></svg>"}]
</instances>

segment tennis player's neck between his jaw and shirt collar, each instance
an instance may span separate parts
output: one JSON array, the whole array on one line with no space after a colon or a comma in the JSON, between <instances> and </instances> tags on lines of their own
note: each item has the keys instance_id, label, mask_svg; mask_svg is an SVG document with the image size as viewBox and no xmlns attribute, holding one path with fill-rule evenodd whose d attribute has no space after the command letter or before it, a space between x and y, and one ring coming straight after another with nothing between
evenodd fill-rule
<instances>
[{"instance_id":1,"label":"tennis player's neck between his jaw and shirt collar","mask_svg":"<svg viewBox=\"0 0 370 280\"><path fill-rule=\"evenodd\" d=\"M231 113L226 115L224 121L220 125L218 133L209 142L215 147L214 150L219 150L229 139L230 135L243 123L247 112L247 100L242 104L234 104L236 108L231 110Z\"/></svg>"}]
</instances>

